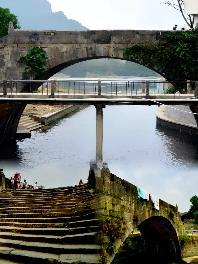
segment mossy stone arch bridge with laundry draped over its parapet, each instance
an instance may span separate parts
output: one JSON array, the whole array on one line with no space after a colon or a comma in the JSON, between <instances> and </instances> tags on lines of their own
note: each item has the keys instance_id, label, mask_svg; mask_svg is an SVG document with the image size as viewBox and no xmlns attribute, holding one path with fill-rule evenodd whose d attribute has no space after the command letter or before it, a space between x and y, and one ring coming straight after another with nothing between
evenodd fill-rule
<instances>
[{"instance_id":1,"label":"mossy stone arch bridge with laundry draped over its parapet","mask_svg":"<svg viewBox=\"0 0 198 264\"><path fill-rule=\"evenodd\" d=\"M181 260L179 236L183 233L183 223L177 205L172 206L159 199L158 211L150 198L149 201L138 198L135 185L118 178L109 169L92 169L92 174L95 175L95 189L100 193L101 216L118 218L126 223L122 236L117 240L117 249L138 228L153 259ZM110 257L108 263L114 257Z\"/></svg>"}]
</instances>

